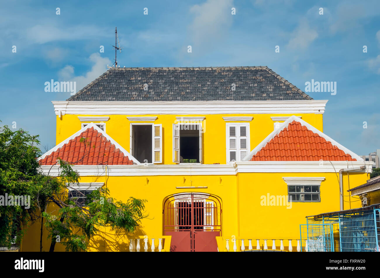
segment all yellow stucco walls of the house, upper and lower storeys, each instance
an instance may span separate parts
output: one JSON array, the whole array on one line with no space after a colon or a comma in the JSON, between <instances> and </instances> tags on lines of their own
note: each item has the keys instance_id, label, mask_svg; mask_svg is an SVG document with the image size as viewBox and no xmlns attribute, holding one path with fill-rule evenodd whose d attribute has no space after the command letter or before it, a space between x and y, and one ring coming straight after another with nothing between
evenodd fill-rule
<instances>
[{"instance_id":1,"label":"all yellow stucco walls of the house, upper and lower storeys","mask_svg":"<svg viewBox=\"0 0 380 278\"><path fill-rule=\"evenodd\" d=\"M57 144L81 128L78 116L57 117ZM92 115L93 116L93 115ZM104 116L104 115L97 115ZM130 122L128 115L111 115L106 122L106 133L127 151L130 150ZM145 115L155 116L155 115ZM184 115L185 116L185 115ZM271 116L291 114L244 114L244 115L186 115L205 116L203 121L203 163L226 163L226 122L223 116L252 116L250 122L250 149L273 131ZM323 131L321 114L296 114L318 130ZM152 122L149 122L152 123ZM173 123L176 115L158 115L155 124L163 127L163 164L173 164ZM262 206L261 196L287 195L287 184L282 177L325 177L321 182L321 201L318 203L292 203L287 206ZM368 179L364 173L350 173L350 188L363 184ZM347 173L344 179L344 208L360 207L360 201L351 197L349 201ZM147 182L148 181L148 182ZM299 239L299 224L306 223L306 216L339 210L339 183L336 173L238 173L236 175L193 175L193 176L82 176L81 182L105 182L111 195L121 201L130 196L147 199L148 218L142 220L135 235L149 238L163 235L163 200L168 195L182 192L204 192L214 194L222 200L222 234L224 238L251 239ZM177 186L207 186L207 188L177 189ZM44 228L45 230L45 228ZM89 251L128 251L130 235L115 235L109 228L95 236ZM40 223L29 227L24 237L22 251L38 251ZM43 250L49 250L50 242L43 236ZM157 246L157 242L156 242ZM57 244L56 251L63 251Z\"/></svg>"}]
</instances>

